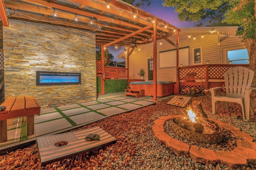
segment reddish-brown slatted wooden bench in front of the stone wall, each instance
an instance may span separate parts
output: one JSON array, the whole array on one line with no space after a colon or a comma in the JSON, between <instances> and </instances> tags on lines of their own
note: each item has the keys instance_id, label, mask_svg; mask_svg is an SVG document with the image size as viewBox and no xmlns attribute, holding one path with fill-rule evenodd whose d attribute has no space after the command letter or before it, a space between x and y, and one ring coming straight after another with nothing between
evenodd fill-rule
<instances>
[{"instance_id":1,"label":"reddish-brown slatted wooden bench in front of the stone wall","mask_svg":"<svg viewBox=\"0 0 256 170\"><path fill-rule=\"evenodd\" d=\"M0 111L0 142L7 141L7 119L27 117L27 135L34 134L34 115L40 115L40 105L34 96L8 97Z\"/></svg>"}]
</instances>

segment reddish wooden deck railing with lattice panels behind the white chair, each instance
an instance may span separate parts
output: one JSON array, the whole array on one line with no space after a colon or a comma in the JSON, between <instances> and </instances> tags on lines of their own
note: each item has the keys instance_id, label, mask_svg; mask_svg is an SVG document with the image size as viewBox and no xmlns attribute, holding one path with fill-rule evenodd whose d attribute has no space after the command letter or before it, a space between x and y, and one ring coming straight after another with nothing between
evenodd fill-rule
<instances>
[{"instance_id":1,"label":"reddish wooden deck railing with lattice panels behind the white chair","mask_svg":"<svg viewBox=\"0 0 256 170\"><path fill-rule=\"evenodd\" d=\"M236 66L248 67L248 64L204 64L179 67L180 94L199 94L209 89L209 80L222 80L223 74Z\"/></svg>"}]
</instances>

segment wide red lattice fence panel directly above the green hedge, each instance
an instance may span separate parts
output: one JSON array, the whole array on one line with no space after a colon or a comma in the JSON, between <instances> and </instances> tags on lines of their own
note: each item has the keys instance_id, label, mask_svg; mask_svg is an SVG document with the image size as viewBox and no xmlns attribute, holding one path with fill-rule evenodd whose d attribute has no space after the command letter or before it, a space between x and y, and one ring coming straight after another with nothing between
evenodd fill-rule
<instances>
[{"instance_id":1,"label":"wide red lattice fence panel directly above the green hedge","mask_svg":"<svg viewBox=\"0 0 256 170\"><path fill-rule=\"evenodd\" d=\"M127 77L127 69L123 68L104 67L104 73L106 78Z\"/></svg>"}]
</instances>

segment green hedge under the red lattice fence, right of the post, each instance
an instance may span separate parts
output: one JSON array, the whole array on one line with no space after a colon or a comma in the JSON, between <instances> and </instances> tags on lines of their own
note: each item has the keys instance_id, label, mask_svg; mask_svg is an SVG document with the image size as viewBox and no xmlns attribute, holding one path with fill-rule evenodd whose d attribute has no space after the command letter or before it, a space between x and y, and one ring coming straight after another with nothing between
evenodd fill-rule
<instances>
[{"instance_id":1,"label":"green hedge under the red lattice fence, right of the post","mask_svg":"<svg viewBox=\"0 0 256 170\"><path fill-rule=\"evenodd\" d=\"M105 94L122 92L127 88L127 79L104 80Z\"/></svg>"}]
</instances>

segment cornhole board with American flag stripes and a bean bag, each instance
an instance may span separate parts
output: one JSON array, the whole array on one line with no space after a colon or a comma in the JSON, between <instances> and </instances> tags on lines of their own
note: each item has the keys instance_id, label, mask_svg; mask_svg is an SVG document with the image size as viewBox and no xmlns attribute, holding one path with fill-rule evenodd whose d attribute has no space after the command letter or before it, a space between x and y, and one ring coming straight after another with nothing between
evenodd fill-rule
<instances>
[{"instance_id":1,"label":"cornhole board with American flag stripes and a bean bag","mask_svg":"<svg viewBox=\"0 0 256 170\"><path fill-rule=\"evenodd\" d=\"M88 141L84 139L88 134L99 134L100 140ZM65 146L55 146L59 141L67 141ZM90 152L116 142L116 138L108 134L100 127L92 127L73 132L54 134L36 138L40 166L46 166L52 162L71 158L78 154Z\"/></svg>"}]
</instances>

